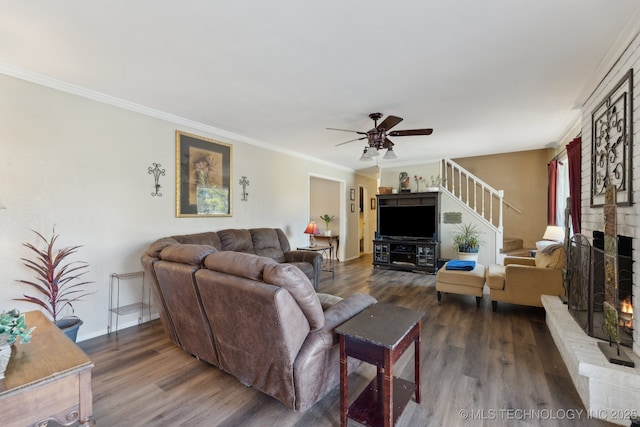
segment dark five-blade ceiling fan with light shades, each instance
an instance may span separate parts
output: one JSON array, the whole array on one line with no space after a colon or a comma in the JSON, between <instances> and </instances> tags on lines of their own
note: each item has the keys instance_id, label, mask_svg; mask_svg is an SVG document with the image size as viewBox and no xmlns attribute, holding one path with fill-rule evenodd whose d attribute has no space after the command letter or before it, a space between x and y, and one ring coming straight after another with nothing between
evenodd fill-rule
<instances>
[{"instance_id":1,"label":"dark five-blade ceiling fan with light shades","mask_svg":"<svg viewBox=\"0 0 640 427\"><path fill-rule=\"evenodd\" d=\"M393 152L393 142L388 138L389 136L415 136L415 135L431 135L433 129L411 129L411 130L394 130L388 132L392 127L396 126L402 121L401 117L387 116L380 124L378 120L382 118L381 113L371 113L369 118L373 120L373 129L366 132L360 132L348 129L336 129L327 128L329 130L339 130L342 132L354 132L359 135L364 135L360 138L351 139L349 141L336 144L337 146L347 144L353 141L367 140L368 145L364 148L364 152L360 157L360 160L373 160L373 157L379 156L378 150L386 149L387 152L383 158L385 159L397 159L398 156Z\"/></svg>"}]
</instances>

